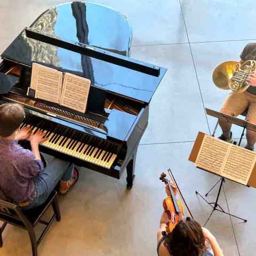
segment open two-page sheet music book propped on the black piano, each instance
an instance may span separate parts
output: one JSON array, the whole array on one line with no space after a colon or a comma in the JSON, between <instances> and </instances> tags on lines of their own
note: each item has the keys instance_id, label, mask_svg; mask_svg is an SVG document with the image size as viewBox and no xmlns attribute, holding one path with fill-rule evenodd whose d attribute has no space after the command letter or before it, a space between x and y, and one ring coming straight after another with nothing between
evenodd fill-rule
<instances>
[{"instance_id":1,"label":"open two-page sheet music book propped on the black piano","mask_svg":"<svg viewBox=\"0 0 256 256\"><path fill-rule=\"evenodd\" d=\"M27 94L85 113L90 85L90 79L62 73L34 62Z\"/></svg>"}]
</instances>

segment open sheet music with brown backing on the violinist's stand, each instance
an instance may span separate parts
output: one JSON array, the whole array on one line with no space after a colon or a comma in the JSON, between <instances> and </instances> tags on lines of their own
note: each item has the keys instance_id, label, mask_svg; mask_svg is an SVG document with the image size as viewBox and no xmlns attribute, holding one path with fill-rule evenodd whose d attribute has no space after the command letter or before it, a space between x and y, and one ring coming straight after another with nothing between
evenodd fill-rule
<instances>
[{"instance_id":1,"label":"open sheet music with brown backing on the violinist's stand","mask_svg":"<svg viewBox=\"0 0 256 256\"><path fill-rule=\"evenodd\" d=\"M198 132L188 159L202 170L256 188L256 152Z\"/></svg>"}]
</instances>

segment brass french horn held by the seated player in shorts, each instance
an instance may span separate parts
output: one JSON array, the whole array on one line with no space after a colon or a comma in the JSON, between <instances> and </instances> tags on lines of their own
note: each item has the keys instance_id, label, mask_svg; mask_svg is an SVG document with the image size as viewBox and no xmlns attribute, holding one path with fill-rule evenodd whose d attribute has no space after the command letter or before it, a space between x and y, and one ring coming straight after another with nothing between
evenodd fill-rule
<instances>
[{"instance_id":1,"label":"brass french horn held by the seated player in shorts","mask_svg":"<svg viewBox=\"0 0 256 256\"><path fill-rule=\"evenodd\" d=\"M250 86L247 83L250 73L256 73L256 61L254 60L247 60L243 64L237 61L225 61L214 69L212 80L220 89L230 89L235 93L240 93Z\"/></svg>"}]
</instances>

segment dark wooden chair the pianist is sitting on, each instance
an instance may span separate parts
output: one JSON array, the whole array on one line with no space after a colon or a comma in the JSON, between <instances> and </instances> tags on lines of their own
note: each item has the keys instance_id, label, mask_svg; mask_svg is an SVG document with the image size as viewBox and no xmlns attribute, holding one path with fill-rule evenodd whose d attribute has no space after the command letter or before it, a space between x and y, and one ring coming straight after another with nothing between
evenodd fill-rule
<instances>
[{"instance_id":1,"label":"dark wooden chair the pianist is sitting on","mask_svg":"<svg viewBox=\"0 0 256 256\"><path fill-rule=\"evenodd\" d=\"M51 219L48 222L41 220L44 213L51 205L53 208L53 215ZM44 204L30 210L22 210L17 205L0 200L0 220L4 222L2 227L0 227L0 247L3 246L2 233L4 228L7 224L11 224L28 231L33 256L38 256L37 247L46 234L46 231L52 225L54 219L57 219L58 221L61 220L56 191L52 191ZM44 224L46 227L38 240L36 240L34 227L38 222Z\"/></svg>"}]
</instances>

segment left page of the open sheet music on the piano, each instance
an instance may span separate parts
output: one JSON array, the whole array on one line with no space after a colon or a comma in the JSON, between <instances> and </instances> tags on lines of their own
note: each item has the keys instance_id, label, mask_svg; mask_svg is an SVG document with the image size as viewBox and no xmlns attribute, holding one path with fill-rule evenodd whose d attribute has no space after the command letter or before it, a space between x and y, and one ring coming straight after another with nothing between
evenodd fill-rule
<instances>
[{"instance_id":1,"label":"left page of the open sheet music on the piano","mask_svg":"<svg viewBox=\"0 0 256 256\"><path fill-rule=\"evenodd\" d=\"M62 72L33 63L30 88L36 90L35 98L59 103L61 86Z\"/></svg>"}]
</instances>

